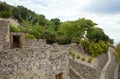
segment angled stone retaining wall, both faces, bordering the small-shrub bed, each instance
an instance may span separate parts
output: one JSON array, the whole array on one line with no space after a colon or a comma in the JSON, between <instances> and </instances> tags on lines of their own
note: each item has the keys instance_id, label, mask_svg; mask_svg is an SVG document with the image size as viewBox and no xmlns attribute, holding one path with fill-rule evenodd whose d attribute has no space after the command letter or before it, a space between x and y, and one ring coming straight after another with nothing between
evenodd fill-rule
<instances>
[{"instance_id":1,"label":"angled stone retaining wall, both faces, bordering the small-shrub bed","mask_svg":"<svg viewBox=\"0 0 120 79\"><path fill-rule=\"evenodd\" d=\"M70 71L72 71L70 72L71 79L72 77L74 77L74 79L78 79L78 75L76 73L79 73L79 75L81 75L81 77L79 76L81 79L100 79L101 70L103 69L107 61L107 53L99 55L97 57L94 68L70 59L70 67L75 69L75 71L72 71L70 69Z\"/></svg>"}]
</instances>

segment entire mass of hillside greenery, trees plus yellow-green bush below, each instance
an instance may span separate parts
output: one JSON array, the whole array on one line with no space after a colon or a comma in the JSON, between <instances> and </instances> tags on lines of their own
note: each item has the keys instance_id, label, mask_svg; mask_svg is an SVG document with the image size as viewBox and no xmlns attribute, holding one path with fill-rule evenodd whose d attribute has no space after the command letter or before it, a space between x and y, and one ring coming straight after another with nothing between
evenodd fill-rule
<instances>
[{"instance_id":1,"label":"entire mass of hillside greenery, trees plus yellow-green bush below","mask_svg":"<svg viewBox=\"0 0 120 79\"><path fill-rule=\"evenodd\" d=\"M36 14L23 6L15 7L5 2L0 3L0 18L17 19L21 27L10 25L10 31L27 33L26 39L46 39L48 44L62 45L75 42L81 44L85 53L93 57L105 53L108 43L113 44L113 39L96 27L96 23L86 18L65 22L61 22L59 18L48 20L44 15ZM72 56L74 58L75 54Z\"/></svg>"}]
</instances>

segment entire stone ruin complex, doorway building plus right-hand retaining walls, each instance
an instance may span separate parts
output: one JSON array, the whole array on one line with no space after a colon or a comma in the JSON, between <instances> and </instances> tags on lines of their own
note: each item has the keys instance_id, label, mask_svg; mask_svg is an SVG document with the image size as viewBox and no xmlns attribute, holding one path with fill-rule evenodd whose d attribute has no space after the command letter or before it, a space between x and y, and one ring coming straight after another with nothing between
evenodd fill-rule
<instances>
[{"instance_id":1,"label":"entire stone ruin complex, doorway building plus right-hand retaining walls","mask_svg":"<svg viewBox=\"0 0 120 79\"><path fill-rule=\"evenodd\" d=\"M23 33L10 32L9 20L0 19L0 79L118 79L114 57L109 60L107 53L90 67L70 59L70 50L83 53L78 44L48 45L43 39L24 38Z\"/></svg>"}]
</instances>

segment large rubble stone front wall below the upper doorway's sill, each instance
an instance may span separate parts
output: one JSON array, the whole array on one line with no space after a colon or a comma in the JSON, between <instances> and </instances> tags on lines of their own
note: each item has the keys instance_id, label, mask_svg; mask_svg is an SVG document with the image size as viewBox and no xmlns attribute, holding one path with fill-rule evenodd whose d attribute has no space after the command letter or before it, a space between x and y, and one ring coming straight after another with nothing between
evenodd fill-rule
<instances>
[{"instance_id":1,"label":"large rubble stone front wall below the upper doorway's sill","mask_svg":"<svg viewBox=\"0 0 120 79\"><path fill-rule=\"evenodd\" d=\"M42 48L1 50L0 79L55 79L59 73L63 74L63 79L69 79L68 64L65 51Z\"/></svg>"}]
</instances>

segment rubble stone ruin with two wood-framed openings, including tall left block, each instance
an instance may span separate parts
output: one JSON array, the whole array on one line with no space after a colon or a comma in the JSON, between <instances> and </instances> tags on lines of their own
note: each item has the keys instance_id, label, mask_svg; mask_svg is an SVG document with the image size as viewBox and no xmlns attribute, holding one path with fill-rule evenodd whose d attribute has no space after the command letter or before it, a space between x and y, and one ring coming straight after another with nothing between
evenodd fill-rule
<instances>
[{"instance_id":1,"label":"rubble stone ruin with two wood-framed openings, including tall left block","mask_svg":"<svg viewBox=\"0 0 120 79\"><path fill-rule=\"evenodd\" d=\"M0 79L69 79L68 52L45 40L25 40L0 20Z\"/></svg>"}]
</instances>

